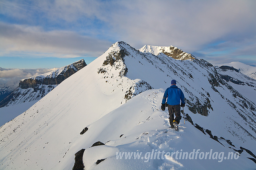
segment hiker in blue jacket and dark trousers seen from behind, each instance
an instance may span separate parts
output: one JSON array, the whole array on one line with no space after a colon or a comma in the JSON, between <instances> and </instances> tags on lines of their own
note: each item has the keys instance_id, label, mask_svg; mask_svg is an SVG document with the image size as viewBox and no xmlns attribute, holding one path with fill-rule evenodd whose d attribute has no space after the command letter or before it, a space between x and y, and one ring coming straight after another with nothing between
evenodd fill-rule
<instances>
[{"instance_id":1,"label":"hiker in blue jacket and dark trousers seen from behind","mask_svg":"<svg viewBox=\"0 0 256 170\"><path fill-rule=\"evenodd\" d=\"M165 110L165 102L167 98L167 106L169 111L169 120L171 128L174 128L173 123L179 124L180 119L182 118L180 115L180 107L185 106L185 96L180 88L176 86L176 80L171 81L171 86L166 89L164 92L164 97L162 100L162 106L161 109ZM180 104L181 101L181 104ZM175 119L174 115L175 114Z\"/></svg>"}]
</instances>

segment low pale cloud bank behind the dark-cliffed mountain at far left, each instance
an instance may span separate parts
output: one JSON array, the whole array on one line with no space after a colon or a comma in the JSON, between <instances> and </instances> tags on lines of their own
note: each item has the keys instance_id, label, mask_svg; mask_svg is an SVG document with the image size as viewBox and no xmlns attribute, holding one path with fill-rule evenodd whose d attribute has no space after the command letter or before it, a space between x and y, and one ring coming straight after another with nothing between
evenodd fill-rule
<instances>
[{"instance_id":1,"label":"low pale cloud bank behind the dark-cliffed mountain at far left","mask_svg":"<svg viewBox=\"0 0 256 170\"><path fill-rule=\"evenodd\" d=\"M43 73L48 73L50 71L56 70L52 69L5 69L0 67L0 87L8 86L11 88L16 88L19 86L19 81L32 76L38 76Z\"/></svg>"}]
</instances>

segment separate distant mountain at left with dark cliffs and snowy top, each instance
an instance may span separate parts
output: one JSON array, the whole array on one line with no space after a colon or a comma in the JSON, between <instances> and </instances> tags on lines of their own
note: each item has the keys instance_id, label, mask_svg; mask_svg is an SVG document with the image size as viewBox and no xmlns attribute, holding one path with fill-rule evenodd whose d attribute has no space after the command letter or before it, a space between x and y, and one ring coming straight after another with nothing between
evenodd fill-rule
<instances>
[{"instance_id":1,"label":"separate distant mountain at left with dark cliffs and snowy top","mask_svg":"<svg viewBox=\"0 0 256 170\"><path fill-rule=\"evenodd\" d=\"M40 100L64 79L86 66L79 60L57 70L20 80L19 87L0 102L0 107Z\"/></svg>"}]
</instances>

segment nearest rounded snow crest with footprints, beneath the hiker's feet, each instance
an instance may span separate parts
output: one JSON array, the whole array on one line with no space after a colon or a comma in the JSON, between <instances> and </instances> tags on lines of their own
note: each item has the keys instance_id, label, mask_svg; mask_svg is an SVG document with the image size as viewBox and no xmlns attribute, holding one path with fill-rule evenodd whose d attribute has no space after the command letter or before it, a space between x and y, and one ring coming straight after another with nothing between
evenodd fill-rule
<instances>
[{"instance_id":1,"label":"nearest rounded snow crest with footprints, beneath the hiker's feet","mask_svg":"<svg viewBox=\"0 0 256 170\"><path fill-rule=\"evenodd\" d=\"M72 145L61 160L63 163L60 162L56 169L72 169L74 156L71 153L82 148L85 148L83 164L86 170L255 167L255 163L247 158L251 155L246 152L239 154L232 149L240 150L239 146L231 146L220 137L217 142L205 131L203 134L196 129L189 121L186 124L181 121L179 132L170 129L168 111L159 109L163 94L164 89L145 91L88 125L86 133ZM185 112L189 110L186 109ZM105 145L91 147L97 141ZM192 155L193 150L199 152L197 156L195 151ZM186 156L186 152L192 154ZM210 152L215 153L214 156ZM175 154L171 157L171 153ZM240 156L235 154L233 159L227 159L229 153ZM103 161L96 165L97 160Z\"/></svg>"}]
</instances>

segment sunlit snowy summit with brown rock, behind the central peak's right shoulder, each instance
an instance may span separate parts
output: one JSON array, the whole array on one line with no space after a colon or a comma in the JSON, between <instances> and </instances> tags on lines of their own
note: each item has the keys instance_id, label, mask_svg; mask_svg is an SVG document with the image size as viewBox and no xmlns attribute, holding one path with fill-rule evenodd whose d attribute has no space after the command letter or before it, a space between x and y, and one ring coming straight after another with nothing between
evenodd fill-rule
<instances>
[{"instance_id":1,"label":"sunlit snowy summit with brown rock, behind the central peak's right shoulder","mask_svg":"<svg viewBox=\"0 0 256 170\"><path fill-rule=\"evenodd\" d=\"M187 60L187 59L196 59L192 54L183 52L181 49L174 46L152 46L145 45L141 49L140 52L150 52L154 55L159 55L159 53L164 53L165 55L172 57L177 60Z\"/></svg>"}]
</instances>

